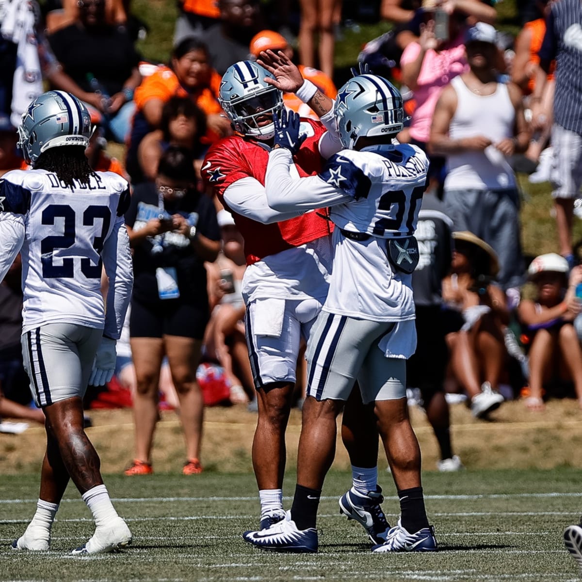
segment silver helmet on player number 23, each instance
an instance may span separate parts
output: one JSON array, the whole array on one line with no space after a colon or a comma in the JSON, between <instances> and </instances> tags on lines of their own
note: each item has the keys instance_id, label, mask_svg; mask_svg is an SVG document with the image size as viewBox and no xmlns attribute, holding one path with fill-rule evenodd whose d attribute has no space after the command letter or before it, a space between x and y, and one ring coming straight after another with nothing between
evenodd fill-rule
<instances>
[{"instance_id":1,"label":"silver helmet on player number 23","mask_svg":"<svg viewBox=\"0 0 582 582\"><path fill-rule=\"evenodd\" d=\"M42 152L61 145L87 147L90 137L91 116L83 103L65 91L47 91L22 114L18 147L34 168Z\"/></svg>"}]
</instances>

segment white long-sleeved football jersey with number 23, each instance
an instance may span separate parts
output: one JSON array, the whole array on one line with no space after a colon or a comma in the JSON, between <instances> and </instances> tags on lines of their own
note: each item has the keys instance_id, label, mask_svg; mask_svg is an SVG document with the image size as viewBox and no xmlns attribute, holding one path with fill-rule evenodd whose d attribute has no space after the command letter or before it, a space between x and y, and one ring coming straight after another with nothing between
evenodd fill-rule
<instances>
[{"instance_id":1,"label":"white long-sleeved football jersey with number 23","mask_svg":"<svg viewBox=\"0 0 582 582\"><path fill-rule=\"evenodd\" d=\"M0 179L0 280L20 250L23 333L49 322L102 328L118 339L133 275L123 214L127 182L97 172L71 189L55 173L15 170ZM107 321L101 268L109 276Z\"/></svg>"}]
</instances>

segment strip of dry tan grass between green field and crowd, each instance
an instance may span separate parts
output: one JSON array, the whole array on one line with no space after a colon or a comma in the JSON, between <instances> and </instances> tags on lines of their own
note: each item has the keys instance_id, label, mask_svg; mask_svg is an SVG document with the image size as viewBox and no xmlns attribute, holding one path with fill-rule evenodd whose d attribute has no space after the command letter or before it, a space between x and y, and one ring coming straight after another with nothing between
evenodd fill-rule
<instances>
[{"instance_id":1,"label":"strip of dry tan grass between green field and crowd","mask_svg":"<svg viewBox=\"0 0 582 582\"><path fill-rule=\"evenodd\" d=\"M463 404L451 407L455 453L467 469L551 469L582 466L582 412L574 400L555 400L543 413L527 411L523 403L507 402L491 421L475 420ZM91 410L87 430L97 448L104 473L119 473L133 457L133 417L129 409ZM435 470L437 443L424 413L411 409L414 430L423 451L424 470ZM206 411L202 461L206 470L248 473L257 416L244 406ZM288 464L294 466L301 416L293 410L287 431ZM44 428L30 427L20 435L0 434L2 473L36 472L44 455ZM179 418L162 412L154 438L152 462L160 473L178 472L184 463ZM381 453L379 467L386 466ZM347 469L349 460L338 441L335 466Z\"/></svg>"}]
</instances>

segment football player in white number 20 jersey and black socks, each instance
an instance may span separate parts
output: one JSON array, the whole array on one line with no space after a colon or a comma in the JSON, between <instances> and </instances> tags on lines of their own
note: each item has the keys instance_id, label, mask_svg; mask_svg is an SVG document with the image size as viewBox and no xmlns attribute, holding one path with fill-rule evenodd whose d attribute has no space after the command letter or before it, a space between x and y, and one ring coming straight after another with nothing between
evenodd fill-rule
<instances>
[{"instance_id":1,"label":"football player in white number 20 jersey and black socks","mask_svg":"<svg viewBox=\"0 0 582 582\"><path fill-rule=\"evenodd\" d=\"M280 57L263 53L260 62L278 76ZM411 274L418 244L413 233L428 160L413 145L393 143L403 126L402 96L382 77L353 77L339 90L334 112L343 150L318 175L306 178L290 172L302 139L296 113L275 119L265 178L274 210L329 206L335 224L329 292L307 343L297 485L307 496L321 491L333 461L336 417L357 380L363 402L374 403L400 499L398 524L372 551L434 551L420 448L406 403L406 359L416 349ZM340 506L349 505L350 495L340 499ZM285 520L246 532L244 538L265 549L317 551L316 513L317 507L296 494Z\"/></svg>"}]
</instances>

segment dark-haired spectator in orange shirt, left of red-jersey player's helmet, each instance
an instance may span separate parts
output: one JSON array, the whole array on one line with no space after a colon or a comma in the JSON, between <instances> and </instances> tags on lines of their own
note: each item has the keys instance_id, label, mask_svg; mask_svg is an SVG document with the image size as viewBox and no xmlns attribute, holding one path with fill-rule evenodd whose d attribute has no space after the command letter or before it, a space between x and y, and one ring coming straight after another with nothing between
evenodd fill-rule
<instances>
[{"instance_id":1,"label":"dark-haired spectator in orange shirt, left of red-jersey player's helmet","mask_svg":"<svg viewBox=\"0 0 582 582\"><path fill-rule=\"evenodd\" d=\"M127 148L126 167L134 184L144 179L137 158L140 142L147 133L161 127L162 109L171 97L187 97L205 113L206 140L214 141L232 133L218 104L220 81L221 77L209 64L207 46L192 37L184 38L173 49L170 67L159 67L144 79L135 94L137 111Z\"/></svg>"}]
</instances>

